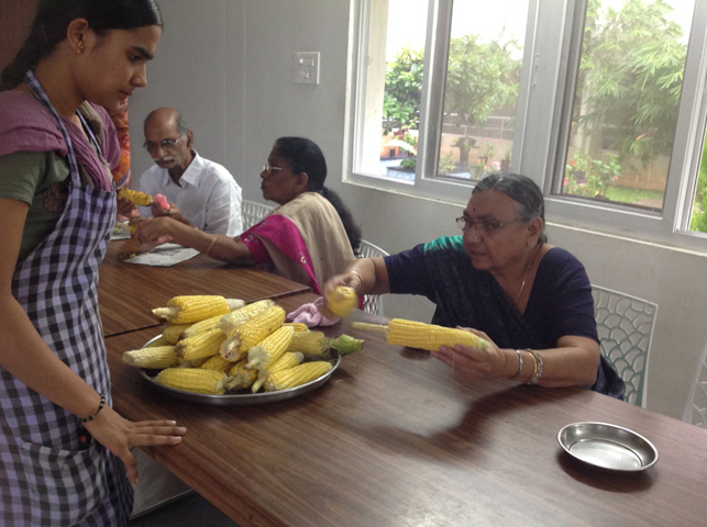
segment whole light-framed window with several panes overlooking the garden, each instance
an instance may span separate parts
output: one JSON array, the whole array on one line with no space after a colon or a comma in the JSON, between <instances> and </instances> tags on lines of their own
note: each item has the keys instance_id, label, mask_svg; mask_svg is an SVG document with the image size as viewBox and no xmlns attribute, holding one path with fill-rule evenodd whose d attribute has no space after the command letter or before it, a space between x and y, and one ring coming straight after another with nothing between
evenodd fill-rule
<instances>
[{"instance_id":1,"label":"whole light-framed window with several panes overlooking the garden","mask_svg":"<svg viewBox=\"0 0 707 527\"><path fill-rule=\"evenodd\" d=\"M353 26L349 181L462 204L510 168L555 221L707 247L707 1L358 0Z\"/></svg>"}]
</instances>

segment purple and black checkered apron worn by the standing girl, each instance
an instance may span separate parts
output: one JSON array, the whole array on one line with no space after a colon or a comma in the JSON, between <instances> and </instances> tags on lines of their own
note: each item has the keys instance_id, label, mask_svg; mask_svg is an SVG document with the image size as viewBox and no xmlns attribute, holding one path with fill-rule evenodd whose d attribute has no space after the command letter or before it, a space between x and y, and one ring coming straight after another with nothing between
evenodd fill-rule
<instances>
[{"instance_id":1,"label":"purple and black checkered apron worn by the standing girl","mask_svg":"<svg viewBox=\"0 0 707 527\"><path fill-rule=\"evenodd\" d=\"M26 82L62 128L70 186L56 228L18 265L12 292L46 345L110 404L97 285L115 193L81 180L62 121L31 72ZM0 525L128 524L133 496L123 463L87 434L81 442L73 414L2 368L0 408Z\"/></svg>"}]
</instances>

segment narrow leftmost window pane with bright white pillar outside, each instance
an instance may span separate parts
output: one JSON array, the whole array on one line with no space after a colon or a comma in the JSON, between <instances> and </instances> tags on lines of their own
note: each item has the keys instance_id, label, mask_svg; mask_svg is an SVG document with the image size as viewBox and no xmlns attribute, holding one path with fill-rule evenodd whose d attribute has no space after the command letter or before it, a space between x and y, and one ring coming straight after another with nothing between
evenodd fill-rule
<instances>
[{"instance_id":1,"label":"narrow leftmost window pane with bright white pillar outside","mask_svg":"<svg viewBox=\"0 0 707 527\"><path fill-rule=\"evenodd\" d=\"M355 170L415 180L427 0L369 2L365 101Z\"/></svg>"}]
</instances>

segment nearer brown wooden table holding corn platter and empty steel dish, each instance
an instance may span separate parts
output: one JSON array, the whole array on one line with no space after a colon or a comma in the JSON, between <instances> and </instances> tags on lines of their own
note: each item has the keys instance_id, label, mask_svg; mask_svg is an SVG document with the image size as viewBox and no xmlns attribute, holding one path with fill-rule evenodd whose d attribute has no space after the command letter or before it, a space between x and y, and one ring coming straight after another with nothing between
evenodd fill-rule
<instances>
[{"instance_id":1,"label":"nearer brown wooden table holding corn platter and empty steel dish","mask_svg":"<svg viewBox=\"0 0 707 527\"><path fill-rule=\"evenodd\" d=\"M177 400L121 360L155 328L115 335L114 407L185 425L180 445L145 450L242 526L704 525L707 430L589 390L464 380L352 321L385 323L356 311L327 327L364 349L316 390L258 405ZM659 460L621 472L574 459L557 433L577 422L630 428Z\"/></svg>"}]
</instances>

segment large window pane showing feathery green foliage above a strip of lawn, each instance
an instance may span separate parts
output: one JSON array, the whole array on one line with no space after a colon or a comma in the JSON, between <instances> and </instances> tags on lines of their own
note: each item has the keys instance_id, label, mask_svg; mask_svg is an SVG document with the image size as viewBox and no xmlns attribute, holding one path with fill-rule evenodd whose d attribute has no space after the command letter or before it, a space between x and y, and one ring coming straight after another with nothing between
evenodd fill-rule
<instances>
[{"instance_id":1,"label":"large window pane showing feathery green foliage above a strip of lawn","mask_svg":"<svg viewBox=\"0 0 707 527\"><path fill-rule=\"evenodd\" d=\"M691 0L590 0L562 193L662 211Z\"/></svg>"}]
</instances>

